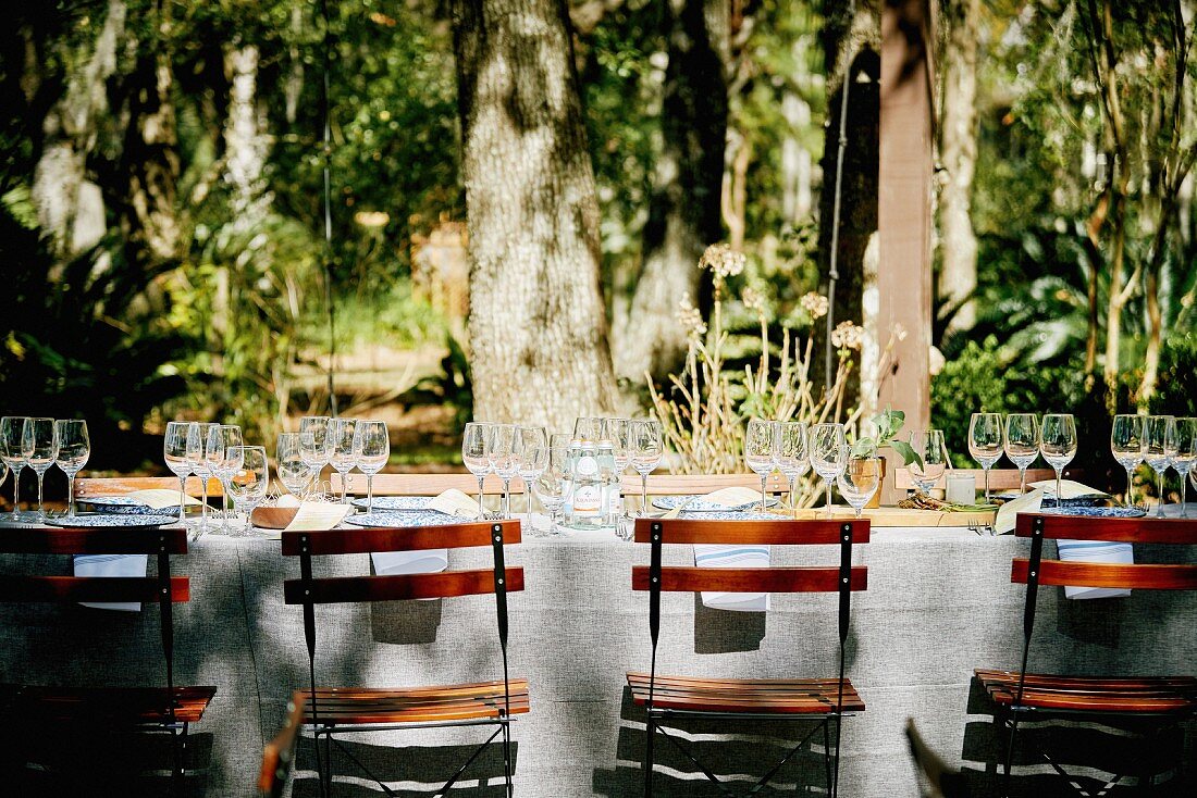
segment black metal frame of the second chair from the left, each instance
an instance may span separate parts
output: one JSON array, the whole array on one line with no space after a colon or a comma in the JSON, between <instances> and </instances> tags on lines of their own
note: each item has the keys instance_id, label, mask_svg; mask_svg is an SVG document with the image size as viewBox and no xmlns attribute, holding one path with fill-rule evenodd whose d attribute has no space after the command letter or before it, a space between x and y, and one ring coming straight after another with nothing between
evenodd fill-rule
<instances>
[{"instance_id":1,"label":"black metal frame of the second chair from the left","mask_svg":"<svg viewBox=\"0 0 1197 798\"><path fill-rule=\"evenodd\" d=\"M316 532L318 535L320 532ZM385 785L382 780L375 776L364 762L353 755L345 745L336 741L334 733L364 733L375 731L411 731L418 729L449 729L456 726L496 726L494 731L487 737L481 744L479 744L466 761L457 768L457 770L449 778L449 780L437 791L440 794L448 796L449 790L457 782L458 779L466 773L474 760L486 750L487 745L494 742L496 737L503 736L503 769L504 778L506 780L508 797L514 796L512 781L511 781L511 681L508 672L508 589L506 589L506 567L504 565L504 553L503 553L503 525L492 524L491 525L491 548L494 554L494 605L496 605L496 617L498 621L499 631L499 648L503 656L503 711L497 718L479 718L469 720L446 720L446 721L430 721L430 723L397 723L397 724L336 724L335 721L320 721L320 707L316 703L316 613L315 613L315 601L312 599L312 592L310 585L312 583L312 571L311 571L311 547L310 532L304 532L299 536L299 568L300 568L300 581L304 584L304 596L303 602L303 627L304 627L304 640L308 647L308 676L310 680L310 694L309 700L311 701L311 717L312 717L312 736L315 741L316 749L316 770L320 778L320 791L322 798L328 798L333 788L333 761L332 761L332 747L335 744L338 750L345 754L358 768L361 769L375 784L387 796L394 797L395 793ZM321 761L320 754L320 738L324 738L324 756L323 762Z\"/></svg>"}]
</instances>

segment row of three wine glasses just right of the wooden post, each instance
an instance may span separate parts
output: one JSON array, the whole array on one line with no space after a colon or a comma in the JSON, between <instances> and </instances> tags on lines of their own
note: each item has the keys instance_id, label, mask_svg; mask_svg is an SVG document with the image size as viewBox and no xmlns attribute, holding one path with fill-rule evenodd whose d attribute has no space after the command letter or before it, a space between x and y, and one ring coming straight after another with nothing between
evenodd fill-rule
<instances>
[{"instance_id":1,"label":"row of three wine glasses just right of the wooden post","mask_svg":"<svg viewBox=\"0 0 1197 798\"><path fill-rule=\"evenodd\" d=\"M1043 455L1056 470L1059 504L1064 467L1076 457L1076 421L1070 413L973 413L968 421L968 453L985 470L985 504L989 504L989 470L1004 453L1019 469L1019 492L1027 489L1027 468Z\"/></svg>"}]
</instances>

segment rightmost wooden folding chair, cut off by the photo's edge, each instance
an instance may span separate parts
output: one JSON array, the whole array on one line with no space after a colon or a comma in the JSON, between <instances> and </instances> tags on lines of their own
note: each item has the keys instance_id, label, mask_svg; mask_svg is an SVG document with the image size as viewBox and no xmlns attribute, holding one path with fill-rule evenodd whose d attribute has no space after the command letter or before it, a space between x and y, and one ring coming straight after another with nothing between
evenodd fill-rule
<instances>
[{"instance_id":1,"label":"rightmost wooden folding chair, cut off by the photo's edge","mask_svg":"<svg viewBox=\"0 0 1197 798\"><path fill-rule=\"evenodd\" d=\"M1192 676L1092 677L1026 672L1035 623L1035 598L1040 585L1197 590L1197 565L1114 565L1045 560L1043 556L1045 538L1195 546L1197 520L1020 514L1015 535L1031 538L1029 559L1015 558L1010 569L1010 581L1027 586L1022 614L1022 666L1017 671L976 670L978 681L998 706L1001 723L1010 732L1002 772L1002 792L1005 796L1010 790L1010 767L1020 719L1068 718L1088 721L1102 718L1137 719L1149 721L1156 731L1162 731L1197 715L1197 678ZM1058 762L1044 751L1037 754L1070 781ZM1106 790L1124 778L1114 775L1106 785ZM1080 787L1077 790L1080 791Z\"/></svg>"}]
</instances>

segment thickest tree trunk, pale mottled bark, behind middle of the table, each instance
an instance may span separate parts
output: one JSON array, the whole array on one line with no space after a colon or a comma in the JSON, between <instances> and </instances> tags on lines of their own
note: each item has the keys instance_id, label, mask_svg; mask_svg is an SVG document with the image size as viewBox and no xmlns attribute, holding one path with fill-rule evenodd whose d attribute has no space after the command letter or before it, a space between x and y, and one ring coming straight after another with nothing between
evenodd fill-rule
<instances>
[{"instance_id":1,"label":"thickest tree trunk, pale mottled bark, behind middle of the table","mask_svg":"<svg viewBox=\"0 0 1197 798\"><path fill-rule=\"evenodd\" d=\"M565 5L454 0L474 415L613 409L598 202Z\"/></svg>"}]
</instances>

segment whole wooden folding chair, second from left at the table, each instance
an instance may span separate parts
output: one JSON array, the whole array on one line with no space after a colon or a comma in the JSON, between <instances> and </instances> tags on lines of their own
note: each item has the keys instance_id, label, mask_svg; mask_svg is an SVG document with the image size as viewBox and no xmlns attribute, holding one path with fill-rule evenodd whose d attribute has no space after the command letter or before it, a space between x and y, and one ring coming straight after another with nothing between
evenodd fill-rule
<instances>
[{"instance_id":1,"label":"whole wooden folding chair, second from left at the table","mask_svg":"<svg viewBox=\"0 0 1197 798\"><path fill-rule=\"evenodd\" d=\"M529 709L528 681L508 675L508 593L523 590L523 567L505 567L503 547L519 543L519 522L454 524L408 529L333 529L328 531L284 531L282 554L298 556L299 579L284 583L287 604L302 604L308 669L311 682L304 723L312 726L317 741L317 769L321 794L332 790L332 745L336 732L427 729L440 726L496 726L438 791L448 794L466 769L499 735L503 736L503 765L508 794L511 786L511 717ZM316 555L364 554L367 552L414 552L440 548L491 547L493 568L445 571L385 577L312 578ZM494 593L503 680L468 684L409 688L320 688L316 687L316 604L387 602L409 598L451 598ZM324 738L324 761L320 757ZM348 751L346 751L348 753ZM352 756L351 756L352 759ZM365 770L365 767L358 762ZM369 772L367 772L367 775ZM370 775L384 792L385 785Z\"/></svg>"}]
</instances>

